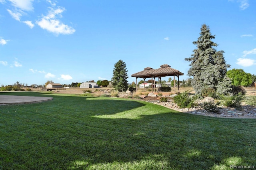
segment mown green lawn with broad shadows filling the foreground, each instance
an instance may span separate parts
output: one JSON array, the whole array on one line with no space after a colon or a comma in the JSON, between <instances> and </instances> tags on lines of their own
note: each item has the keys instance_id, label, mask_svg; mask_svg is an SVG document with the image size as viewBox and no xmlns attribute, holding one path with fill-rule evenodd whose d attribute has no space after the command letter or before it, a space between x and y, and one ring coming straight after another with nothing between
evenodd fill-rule
<instances>
[{"instance_id":1,"label":"mown green lawn with broad shadows filling the foreground","mask_svg":"<svg viewBox=\"0 0 256 170\"><path fill-rule=\"evenodd\" d=\"M230 169L256 167L256 119L179 113L152 103L51 92L0 106L0 169Z\"/></svg>"}]
</instances>

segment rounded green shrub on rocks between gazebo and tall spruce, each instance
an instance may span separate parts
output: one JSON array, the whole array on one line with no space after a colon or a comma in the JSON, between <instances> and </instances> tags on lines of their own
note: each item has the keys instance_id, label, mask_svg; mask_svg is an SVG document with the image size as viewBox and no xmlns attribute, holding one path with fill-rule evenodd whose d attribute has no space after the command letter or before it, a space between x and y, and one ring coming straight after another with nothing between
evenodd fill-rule
<instances>
[{"instance_id":1,"label":"rounded green shrub on rocks between gazebo and tall spruce","mask_svg":"<svg viewBox=\"0 0 256 170\"><path fill-rule=\"evenodd\" d=\"M189 96L188 91L184 91L176 96L174 96L174 103L176 103L179 107L193 107L195 106L196 96Z\"/></svg>"}]
</instances>

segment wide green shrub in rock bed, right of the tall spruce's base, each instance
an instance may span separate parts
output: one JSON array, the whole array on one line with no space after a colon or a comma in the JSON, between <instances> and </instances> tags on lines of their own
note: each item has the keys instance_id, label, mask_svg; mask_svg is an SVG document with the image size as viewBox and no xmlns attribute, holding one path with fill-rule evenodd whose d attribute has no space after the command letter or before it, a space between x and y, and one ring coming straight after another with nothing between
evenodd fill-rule
<instances>
[{"instance_id":1,"label":"wide green shrub in rock bed, right of the tall spruce's base","mask_svg":"<svg viewBox=\"0 0 256 170\"><path fill-rule=\"evenodd\" d=\"M245 95L243 95L242 93L238 93L236 95L232 95L232 96L224 96L222 95L222 103L223 105L227 106L227 107L235 107L235 108L239 108L242 105L242 100L244 100Z\"/></svg>"}]
</instances>

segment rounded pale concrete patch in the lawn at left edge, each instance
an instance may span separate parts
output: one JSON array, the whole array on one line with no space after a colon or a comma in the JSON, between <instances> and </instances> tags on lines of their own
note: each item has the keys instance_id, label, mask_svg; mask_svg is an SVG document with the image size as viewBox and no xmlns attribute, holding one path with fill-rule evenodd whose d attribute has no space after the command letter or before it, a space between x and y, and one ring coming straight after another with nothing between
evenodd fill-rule
<instances>
[{"instance_id":1,"label":"rounded pale concrete patch in the lawn at left edge","mask_svg":"<svg viewBox=\"0 0 256 170\"><path fill-rule=\"evenodd\" d=\"M38 103L38 102L49 101L49 100L52 100L52 97L0 95L0 105Z\"/></svg>"}]
</instances>

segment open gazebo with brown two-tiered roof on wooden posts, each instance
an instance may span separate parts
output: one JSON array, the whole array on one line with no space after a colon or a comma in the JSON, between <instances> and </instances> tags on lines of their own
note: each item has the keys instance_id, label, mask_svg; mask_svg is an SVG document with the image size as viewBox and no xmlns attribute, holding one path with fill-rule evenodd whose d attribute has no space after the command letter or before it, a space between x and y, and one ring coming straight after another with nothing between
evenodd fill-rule
<instances>
[{"instance_id":1,"label":"open gazebo with brown two-tiered roof on wooden posts","mask_svg":"<svg viewBox=\"0 0 256 170\"><path fill-rule=\"evenodd\" d=\"M132 77L136 77L136 91L137 91L138 90L138 83L137 83L138 78L143 78L144 83L145 83L146 78L151 78L152 82L153 82L153 78L154 78L154 82L156 82L156 77L158 77L158 85L159 85L159 82L161 82L162 77L174 76L174 93L176 93L175 76L178 77L178 91L180 91L180 82L179 82L180 75L184 75L184 74L176 69L171 68L170 65L164 64L164 65L161 65L159 69L152 69L151 67L146 67L146 68L144 68L143 71L132 74ZM162 84L161 84L161 87L162 87ZM145 91L145 86L144 86L144 91ZM152 86L152 91L153 91L153 86ZM154 87L154 91L156 91L156 87Z\"/></svg>"}]
</instances>

